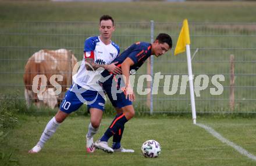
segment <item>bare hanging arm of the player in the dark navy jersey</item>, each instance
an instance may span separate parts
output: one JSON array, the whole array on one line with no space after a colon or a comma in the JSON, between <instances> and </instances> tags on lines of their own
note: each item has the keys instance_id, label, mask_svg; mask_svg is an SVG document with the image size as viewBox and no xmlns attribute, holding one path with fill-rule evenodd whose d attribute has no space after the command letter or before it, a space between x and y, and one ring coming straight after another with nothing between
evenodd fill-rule
<instances>
[{"instance_id":1,"label":"bare hanging arm of the player in the dark navy jersey","mask_svg":"<svg viewBox=\"0 0 256 166\"><path fill-rule=\"evenodd\" d=\"M126 98L129 98L130 101L135 101L135 95L133 93L133 90L130 85L130 67L134 65L133 60L131 58L127 57L125 61L121 64L121 69L123 76L126 78L126 83L125 83L125 91L126 91Z\"/></svg>"}]
</instances>

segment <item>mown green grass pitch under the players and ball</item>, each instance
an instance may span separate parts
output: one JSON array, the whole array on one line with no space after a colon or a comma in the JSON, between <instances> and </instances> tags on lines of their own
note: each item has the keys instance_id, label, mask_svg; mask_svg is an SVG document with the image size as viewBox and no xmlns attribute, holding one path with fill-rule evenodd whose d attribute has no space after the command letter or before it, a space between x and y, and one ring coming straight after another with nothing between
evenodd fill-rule
<instances>
[{"instance_id":1,"label":"mown green grass pitch under the players and ball","mask_svg":"<svg viewBox=\"0 0 256 166\"><path fill-rule=\"evenodd\" d=\"M5 141L5 149L12 149L12 158L20 165L255 165L256 161L241 155L232 147L212 137L204 129L182 117L140 117L126 124L122 145L135 153L107 154L101 150L87 154L85 134L88 117L69 117L38 154L27 153L40 138L47 116L22 116L19 127L12 130ZM111 118L102 120L99 138ZM201 117L198 123L214 128L223 137L256 154L255 119ZM144 158L140 147L148 139L157 140L162 146L158 158ZM111 143L111 139L109 140Z\"/></svg>"}]
</instances>

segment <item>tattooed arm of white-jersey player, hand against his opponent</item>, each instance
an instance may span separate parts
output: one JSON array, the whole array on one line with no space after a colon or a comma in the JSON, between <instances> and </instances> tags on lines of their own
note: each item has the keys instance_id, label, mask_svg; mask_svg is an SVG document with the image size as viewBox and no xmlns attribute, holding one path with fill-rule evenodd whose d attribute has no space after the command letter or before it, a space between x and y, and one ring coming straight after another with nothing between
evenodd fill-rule
<instances>
[{"instance_id":1,"label":"tattooed arm of white-jersey player, hand against his opponent","mask_svg":"<svg viewBox=\"0 0 256 166\"><path fill-rule=\"evenodd\" d=\"M105 65L105 64L97 64L94 62L93 58L86 58L86 69L88 71L94 71L97 70L98 68L104 68L106 70L108 70L109 72L114 73L115 75L119 75L122 73L121 69L119 67L116 67L115 64L117 64L118 62L113 62L112 64L109 65ZM90 64L90 65L89 65Z\"/></svg>"}]
</instances>

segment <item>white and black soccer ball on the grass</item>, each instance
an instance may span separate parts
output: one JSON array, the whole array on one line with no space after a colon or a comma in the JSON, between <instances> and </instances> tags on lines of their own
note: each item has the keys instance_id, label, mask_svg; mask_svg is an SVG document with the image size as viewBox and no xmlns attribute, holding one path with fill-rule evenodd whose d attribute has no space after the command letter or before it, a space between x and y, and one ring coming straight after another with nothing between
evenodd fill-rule
<instances>
[{"instance_id":1,"label":"white and black soccer ball on the grass","mask_svg":"<svg viewBox=\"0 0 256 166\"><path fill-rule=\"evenodd\" d=\"M144 157L158 157L161 153L161 146L155 140L148 140L141 146L141 152Z\"/></svg>"}]
</instances>

